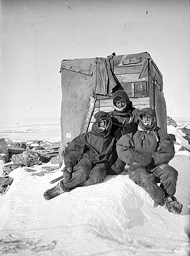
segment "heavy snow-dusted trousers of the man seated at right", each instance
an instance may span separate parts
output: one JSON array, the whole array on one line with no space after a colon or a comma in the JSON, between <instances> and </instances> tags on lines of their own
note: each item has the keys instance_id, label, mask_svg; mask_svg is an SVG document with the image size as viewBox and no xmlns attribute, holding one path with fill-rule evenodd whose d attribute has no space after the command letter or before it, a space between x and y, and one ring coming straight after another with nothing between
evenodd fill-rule
<instances>
[{"instance_id":1,"label":"heavy snow-dusted trousers of the man seated at right","mask_svg":"<svg viewBox=\"0 0 190 256\"><path fill-rule=\"evenodd\" d=\"M175 194L178 172L169 164L161 164L152 170L140 167L129 170L129 178L145 189L155 203L162 204L166 195L171 197ZM161 182L161 186L157 186Z\"/></svg>"}]
</instances>

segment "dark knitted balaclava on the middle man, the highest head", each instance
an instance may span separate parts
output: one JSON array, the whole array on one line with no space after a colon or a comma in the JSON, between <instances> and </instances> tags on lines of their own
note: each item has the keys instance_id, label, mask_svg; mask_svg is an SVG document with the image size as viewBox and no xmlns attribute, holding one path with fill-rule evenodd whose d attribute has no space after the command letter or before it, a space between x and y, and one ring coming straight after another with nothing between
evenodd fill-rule
<instances>
[{"instance_id":1,"label":"dark knitted balaclava on the middle man, the highest head","mask_svg":"<svg viewBox=\"0 0 190 256\"><path fill-rule=\"evenodd\" d=\"M123 108L116 107L115 102L118 100L123 100L125 102L125 106ZM125 91L118 90L115 93L113 93L113 105L117 111L125 112L128 111L129 108L131 108L132 102L131 100L129 100L129 97Z\"/></svg>"}]
</instances>

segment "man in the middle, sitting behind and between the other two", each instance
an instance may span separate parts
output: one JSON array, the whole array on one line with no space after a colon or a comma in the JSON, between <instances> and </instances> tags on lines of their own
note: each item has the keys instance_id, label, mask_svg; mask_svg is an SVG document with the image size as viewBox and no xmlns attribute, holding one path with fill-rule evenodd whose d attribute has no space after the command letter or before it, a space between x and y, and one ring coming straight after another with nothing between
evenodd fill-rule
<instances>
[{"instance_id":1,"label":"man in the middle, sitting behind and between the other two","mask_svg":"<svg viewBox=\"0 0 190 256\"><path fill-rule=\"evenodd\" d=\"M109 116L111 116L113 121L111 133L119 140L123 135L125 125L127 125L129 130L136 131L139 109L132 106L132 102L124 90L117 90L113 93L113 106L115 109L109 112ZM123 172L125 165L126 163L118 159L109 170L109 173L118 174Z\"/></svg>"}]
</instances>

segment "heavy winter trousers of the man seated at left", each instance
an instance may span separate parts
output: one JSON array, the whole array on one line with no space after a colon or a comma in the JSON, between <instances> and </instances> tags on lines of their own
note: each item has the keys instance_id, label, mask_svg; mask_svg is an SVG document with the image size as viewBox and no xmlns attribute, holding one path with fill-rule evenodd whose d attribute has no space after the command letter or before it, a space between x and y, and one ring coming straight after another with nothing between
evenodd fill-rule
<instances>
[{"instance_id":1,"label":"heavy winter trousers of the man seated at left","mask_svg":"<svg viewBox=\"0 0 190 256\"><path fill-rule=\"evenodd\" d=\"M102 182L107 173L107 164L93 164L88 158L82 158L73 168L72 178L67 182L62 180L59 185L67 192L77 187L90 186Z\"/></svg>"}]
</instances>

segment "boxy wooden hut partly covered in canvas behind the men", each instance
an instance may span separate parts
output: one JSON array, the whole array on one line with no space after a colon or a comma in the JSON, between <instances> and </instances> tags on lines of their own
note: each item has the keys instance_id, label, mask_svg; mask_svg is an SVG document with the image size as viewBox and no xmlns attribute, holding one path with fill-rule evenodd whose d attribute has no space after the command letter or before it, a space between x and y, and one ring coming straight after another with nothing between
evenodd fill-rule
<instances>
[{"instance_id":1,"label":"boxy wooden hut partly covered in canvas behind the men","mask_svg":"<svg viewBox=\"0 0 190 256\"><path fill-rule=\"evenodd\" d=\"M157 125L166 131L162 74L148 52L106 58L61 61L61 139L71 141L90 131L97 111L111 111L112 94L127 92L135 108L154 108Z\"/></svg>"}]
</instances>

